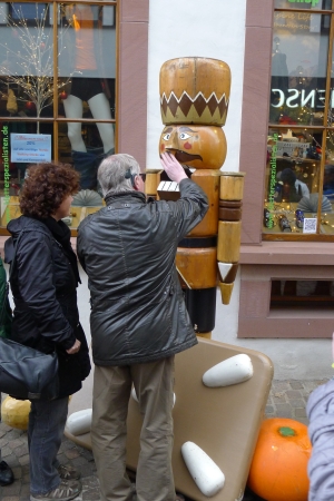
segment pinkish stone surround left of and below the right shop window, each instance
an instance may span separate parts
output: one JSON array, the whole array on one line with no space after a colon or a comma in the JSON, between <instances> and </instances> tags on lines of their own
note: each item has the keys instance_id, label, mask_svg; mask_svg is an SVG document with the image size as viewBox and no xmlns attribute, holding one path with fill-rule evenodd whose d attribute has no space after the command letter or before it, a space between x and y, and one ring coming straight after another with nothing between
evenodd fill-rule
<instances>
[{"instance_id":1,"label":"pinkish stone surround left of and below the right shop window","mask_svg":"<svg viewBox=\"0 0 334 501\"><path fill-rule=\"evenodd\" d=\"M334 243L262 242L273 12L273 1L247 1L240 144L240 170L247 177L238 337L331 337L333 308L271 308L272 281L310 284L334 278Z\"/></svg>"}]
</instances>

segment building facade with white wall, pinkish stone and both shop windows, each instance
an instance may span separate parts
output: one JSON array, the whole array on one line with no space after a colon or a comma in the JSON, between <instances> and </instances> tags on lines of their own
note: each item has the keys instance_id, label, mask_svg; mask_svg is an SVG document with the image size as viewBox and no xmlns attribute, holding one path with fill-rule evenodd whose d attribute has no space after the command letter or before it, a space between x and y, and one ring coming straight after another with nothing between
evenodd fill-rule
<instances>
[{"instance_id":1,"label":"building facade with white wall, pinkish stone and both shop windows","mask_svg":"<svg viewBox=\"0 0 334 501\"><path fill-rule=\"evenodd\" d=\"M214 337L331 337L332 0L0 3L3 238L36 135L51 137L38 155L84 176L112 150L159 169L161 65L222 59L232 70L223 169L246 178L240 269ZM73 236L101 204L95 177L85 179Z\"/></svg>"}]
</instances>

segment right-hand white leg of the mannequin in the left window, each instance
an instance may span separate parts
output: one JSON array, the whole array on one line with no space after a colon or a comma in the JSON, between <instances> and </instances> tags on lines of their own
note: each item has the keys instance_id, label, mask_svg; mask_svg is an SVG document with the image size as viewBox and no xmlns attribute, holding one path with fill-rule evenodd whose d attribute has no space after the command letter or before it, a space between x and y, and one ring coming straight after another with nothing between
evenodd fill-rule
<instances>
[{"instance_id":1,"label":"right-hand white leg of the mannequin in the left window","mask_svg":"<svg viewBox=\"0 0 334 501\"><path fill-rule=\"evenodd\" d=\"M88 105L94 118L111 120L110 105L104 92L90 98ZM110 151L110 149L115 148L112 124L97 124L97 128L104 144L105 153Z\"/></svg>"}]
</instances>

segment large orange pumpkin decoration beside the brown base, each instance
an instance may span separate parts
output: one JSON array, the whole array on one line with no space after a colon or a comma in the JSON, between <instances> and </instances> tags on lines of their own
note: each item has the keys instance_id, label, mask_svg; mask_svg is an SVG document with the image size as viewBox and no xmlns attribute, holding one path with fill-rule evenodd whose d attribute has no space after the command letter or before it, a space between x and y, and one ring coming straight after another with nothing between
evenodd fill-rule
<instances>
[{"instance_id":1,"label":"large orange pumpkin decoration beside the brown base","mask_svg":"<svg viewBox=\"0 0 334 501\"><path fill-rule=\"evenodd\" d=\"M267 501L307 501L307 462L312 444L307 426L273 418L262 423L248 487Z\"/></svg>"}]
</instances>

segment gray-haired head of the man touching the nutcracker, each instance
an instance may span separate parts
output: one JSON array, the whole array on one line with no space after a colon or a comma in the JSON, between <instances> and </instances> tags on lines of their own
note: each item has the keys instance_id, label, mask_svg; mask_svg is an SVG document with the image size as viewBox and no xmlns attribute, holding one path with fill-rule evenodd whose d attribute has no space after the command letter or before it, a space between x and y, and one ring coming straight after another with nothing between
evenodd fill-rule
<instances>
[{"instance_id":1,"label":"gray-haired head of the man touching the nutcracker","mask_svg":"<svg viewBox=\"0 0 334 501\"><path fill-rule=\"evenodd\" d=\"M118 154L105 158L98 169L98 181L104 196L132 191L130 174L138 175L139 173L139 164L131 155Z\"/></svg>"}]
</instances>

